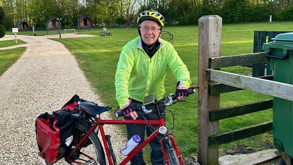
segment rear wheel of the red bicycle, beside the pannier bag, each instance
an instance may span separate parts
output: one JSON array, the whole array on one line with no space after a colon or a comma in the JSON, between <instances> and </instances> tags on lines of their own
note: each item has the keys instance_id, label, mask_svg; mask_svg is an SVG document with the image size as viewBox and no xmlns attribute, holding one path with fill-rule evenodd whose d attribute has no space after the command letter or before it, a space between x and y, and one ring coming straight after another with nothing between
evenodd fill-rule
<instances>
[{"instance_id":1,"label":"rear wheel of the red bicycle, beside the pannier bag","mask_svg":"<svg viewBox=\"0 0 293 165\"><path fill-rule=\"evenodd\" d=\"M89 125L78 121L75 123L75 133L74 133L74 141L73 146L76 146L78 142L82 138L82 134L86 134L89 131ZM89 140L85 144L86 147L81 148L80 150L76 150L73 155L70 157L71 160L80 162L80 163L87 163L91 161L87 156L90 156L96 159L99 164L106 164L104 150L102 148L101 142L97 137L96 133L93 131L89 134ZM46 165L53 165L52 163L46 162Z\"/></svg>"}]
</instances>

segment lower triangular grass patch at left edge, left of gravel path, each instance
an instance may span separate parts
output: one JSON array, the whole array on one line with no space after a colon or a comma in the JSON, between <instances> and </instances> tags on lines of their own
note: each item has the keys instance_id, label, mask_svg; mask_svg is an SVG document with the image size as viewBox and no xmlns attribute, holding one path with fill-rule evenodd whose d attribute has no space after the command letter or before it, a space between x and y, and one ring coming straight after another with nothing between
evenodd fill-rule
<instances>
[{"instance_id":1,"label":"lower triangular grass patch at left edge, left of gravel path","mask_svg":"<svg viewBox=\"0 0 293 165\"><path fill-rule=\"evenodd\" d=\"M14 49L0 50L0 75L11 67L26 49L26 47L18 47Z\"/></svg>"}]
</instances>

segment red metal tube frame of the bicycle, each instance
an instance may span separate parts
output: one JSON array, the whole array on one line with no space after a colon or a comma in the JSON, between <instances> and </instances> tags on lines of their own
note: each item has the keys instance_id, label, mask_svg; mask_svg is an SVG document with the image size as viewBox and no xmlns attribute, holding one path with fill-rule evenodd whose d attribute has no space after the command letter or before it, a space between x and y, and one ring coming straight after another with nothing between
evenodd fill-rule
<instances>
[{"instance_id":1,"label":"red metal tube frame of the bicycle","mask_svg":"<svg viewBox=\"0 0 293 165\"><path fill-rule=\"evenodd\" d=\"M74 150L70 153L69 156L67 156L67 161L71 162L71 163L77 163L77 164L81 164L79 162L70 160L69 157L78 149L78 148L82 148L89 137L89 134L94 131L97 127L99 127L99 130L101 132L101 136L103 139L103 144L106 150L106 155L107 155L107 159L109 162L109 165L113 165L112 159L110 157L110 151L108 149L108 143L107 143L107 139L106 139L106 135L103 129L103 125L104 124L119 124L119 125L125 125L125 124L133 124L133 125L147 125L145 120L104 120L104 119L100 119L100 117L96 118L97 123L93 125L93 127L89 130L89 132L87 132L85 134L85 136L81 139L81 141L79 141L79 143L75 146ZM164 119L158 119L158 120L147 120L148 123L150 125L159 125L159 127L164 126L165 125L165 121ZM140 145L136 146L136 148L134 148L129 154L128 156L121 162L119 163L119 165L125 165L126 163L128 163L140 150L142 150L150 141L152 141L156 136L159 135L158 129L156 131L154 131L153 134L151 134L147 139L145 139ZM175 143L174 137L172 135L169 135L169 138L172 140L175 152L177 154L178 160L180 165L183 165L182 159L181 159L181 155L179 154L177 145ZM167 165L169 165L169 160L168 160L168 156L167 153L165 151L165 147L163 145L163 140L160 140L161 143L161 147L162 147L162 151L164 154L164 158L165 158L165 163ZM89 159L93 160L94 158L81 153L82 155L88 157Z\"/></svg>"}]
</instances>

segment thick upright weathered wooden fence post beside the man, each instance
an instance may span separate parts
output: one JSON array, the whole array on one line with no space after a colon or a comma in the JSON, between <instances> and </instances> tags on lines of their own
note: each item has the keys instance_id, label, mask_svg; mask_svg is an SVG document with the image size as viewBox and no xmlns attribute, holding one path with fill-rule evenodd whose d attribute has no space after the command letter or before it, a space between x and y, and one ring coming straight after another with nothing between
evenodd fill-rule
<instances>
[{"instance_id":1,"label":"thick upright weathered wooden fence post beside the man","mask_svg":"<svg viewBox=\"0 0 293 165\"><path fill-rule=\"evenodd\" d=\"M205 70L209 68L210 57L221 56L222 18L202 16L198 20L198 112L197 112L197 161L214 165L219 161L219 147L209 147L208 137L219 134L219 120L209 121L209 111L219 109L220 95L208 95Z\"/></svg>"}]
</instances>

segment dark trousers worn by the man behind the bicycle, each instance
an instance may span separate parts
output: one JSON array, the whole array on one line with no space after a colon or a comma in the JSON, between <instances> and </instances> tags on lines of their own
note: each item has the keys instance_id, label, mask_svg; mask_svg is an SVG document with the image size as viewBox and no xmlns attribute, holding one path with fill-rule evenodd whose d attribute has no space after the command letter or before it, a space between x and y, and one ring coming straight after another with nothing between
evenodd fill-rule
<instances>
[{"instance_id":1,"label":"dark trousers worn by the man behind the bicycle","mask_svg":"<svg viewBox=\"0 0 293 165\"><path fill-rule=\"evenodd\" d=\"M132 104L134 106L138 104L142 104L140 101L136 101L132 99ZM161 110L163 111L163 110ZM143 120L143 116L140 112L137 112L138 118L137 120ZM153 114L149 113L147 115L144 115L147 120L156 120L157 119L157 113L154 112ZM126 116L124 119L131 120L131 116ZM163 119L165 121L165 114L163 116ZM152 125L153 128L157 129L159 126L158 125ZM147 137L149 137L151 134L153 134L153 130L151 130L149 127L146 125L126 125L126 130L127 130L127 136L128 140L132 138L133 135L139 135L141 141L139 145L144 141L144 136L145 132L147 130ZM151 152L150 152L150 160L153 165L165 165L164 163L165 158L162 152L161 148L161 143L159 141L160 139L155 137L152 141L150 141L150 147L151 147ZM140 150L136 156L134 156L131 160L131 165L145 165L146 163L143 160L143 151Z\"/></svg>"}]
</instances>

